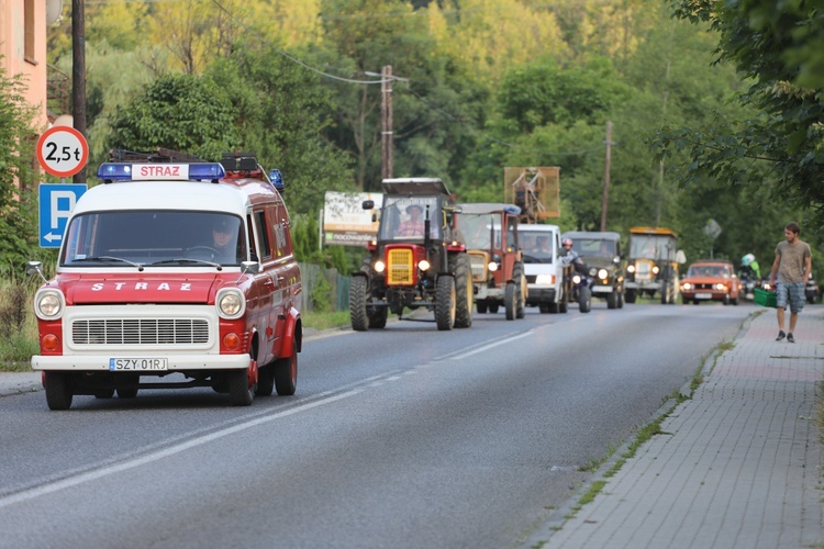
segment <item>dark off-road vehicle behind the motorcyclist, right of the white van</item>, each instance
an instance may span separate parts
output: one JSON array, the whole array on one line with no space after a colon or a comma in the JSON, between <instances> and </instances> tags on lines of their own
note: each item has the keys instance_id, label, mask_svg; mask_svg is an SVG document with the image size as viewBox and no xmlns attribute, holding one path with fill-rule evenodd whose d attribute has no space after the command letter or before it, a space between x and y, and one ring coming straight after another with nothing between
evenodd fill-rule
<instances>
[{"instance_id":1,"label":"dark off-road vehicle behind the motorcyclist, right of the white van","mask_svg":"<svg viewBox=\"0 0 824 549\"><path fill-rule=\"evenodd\" d=\"M624 306L624 255L621 235L612 232L569 231L561 239L572 240L572 249L587 265L590 292L606 300L606 309Z\"/></svg>"}]
</instances>

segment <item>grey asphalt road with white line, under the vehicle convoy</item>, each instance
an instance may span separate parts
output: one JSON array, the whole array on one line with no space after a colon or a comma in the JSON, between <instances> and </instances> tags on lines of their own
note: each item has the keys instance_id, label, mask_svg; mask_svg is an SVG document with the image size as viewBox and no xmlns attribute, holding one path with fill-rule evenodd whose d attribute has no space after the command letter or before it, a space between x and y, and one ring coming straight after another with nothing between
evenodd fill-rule
<instances>
[{"instance_id":1,"label":"grey asphalt road with white line, under the vehicle convoy","mask_svg":"<svg viewBox=\"0 0 824 549\"><path fill-rule=\"evenodd\" d=\"M312 338L293 397L0 399L0 547L512 547L753 305Z\"/></svg>"}]
</instances>

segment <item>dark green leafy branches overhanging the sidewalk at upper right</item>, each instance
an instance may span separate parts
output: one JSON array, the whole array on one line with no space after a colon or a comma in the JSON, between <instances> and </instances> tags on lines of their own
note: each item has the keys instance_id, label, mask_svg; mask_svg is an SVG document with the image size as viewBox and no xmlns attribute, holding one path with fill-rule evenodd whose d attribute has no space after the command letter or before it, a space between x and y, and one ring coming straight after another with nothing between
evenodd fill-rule
<instances>
[{"instance_id":1,"label":"dark green leafy branches overhanging the sidewalk at upper right","mask_svg":"<svg viewBox=\"0 0 824 549\"><path fill-rule=\"evenodd\" d=\"M703 125L665 126L656 146L662 157L686 152L682 184L702 178L753 189L770 184L773 199L824 226L824 115L821 67L824 22L815 2L672 3L678 18L709 24L717 33L717 55L751 80L736 96L757 115L716 113ZM800 220L803 221L803 220Z\"/></svg>"}]
</instances>

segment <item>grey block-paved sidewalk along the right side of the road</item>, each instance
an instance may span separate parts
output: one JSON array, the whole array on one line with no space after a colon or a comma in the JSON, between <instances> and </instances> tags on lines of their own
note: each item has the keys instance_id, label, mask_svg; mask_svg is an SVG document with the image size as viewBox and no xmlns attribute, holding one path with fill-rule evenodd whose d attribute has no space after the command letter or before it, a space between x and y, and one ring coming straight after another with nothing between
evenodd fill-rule
<instances>
[{"instance_id":1,"label":"grey block-paved sidewalk along the right side of the road","mask_svg":"<svg viewBox=\"0 0 824 549\"><path fill-rule=\"evenodd\" d=\"M789 321L789 315L788 315ZM709 360L693 397L662 422L605 485L530 537L542 548L822 548L824 477L815 425L824 378L824 309L799 316L795 344L776 341L773 310ZM714 367L713 367L714 366ZM614 459L625 451L622 448Z\"/></svg>"}]
</instances>

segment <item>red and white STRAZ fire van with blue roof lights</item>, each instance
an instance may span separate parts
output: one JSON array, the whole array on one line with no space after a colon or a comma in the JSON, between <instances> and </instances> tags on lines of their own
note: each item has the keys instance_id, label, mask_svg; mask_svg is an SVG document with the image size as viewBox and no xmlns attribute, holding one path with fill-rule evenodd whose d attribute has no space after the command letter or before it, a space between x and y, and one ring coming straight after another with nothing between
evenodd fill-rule
<instances>
[{"instance_id":1,"label":"red and white STRAZ fire van with blue roof lights","mask_svg":"<svg viewBox=\"0 0 824 549\"><path fill-rule=\"evenodd\" d=\"M112 156L71 211L55 277L29 262L45 282L32 368L48 407L140 389L211 386L233 405L294 394L301 273L286 205L254 155Z\"/></svg>"}]
</instances>

